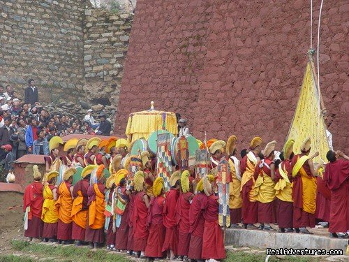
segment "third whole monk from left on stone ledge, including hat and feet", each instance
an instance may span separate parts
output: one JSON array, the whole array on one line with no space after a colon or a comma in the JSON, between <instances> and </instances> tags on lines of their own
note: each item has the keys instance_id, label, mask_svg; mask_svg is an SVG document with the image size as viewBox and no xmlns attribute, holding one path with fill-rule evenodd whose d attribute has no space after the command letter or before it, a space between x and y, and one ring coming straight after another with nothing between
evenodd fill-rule
<instances>
[{"instance_id":1,"label":"third whole monk from left on stone ledge, including hat and feet","mask_svg":"<svg viewBox=\"0 0 349 262\"><path fill-rule=\"evenodd\" d=\"M274 199L275 199L275 164L274 150L276 141L267 143L263 154L265 159L255 167L255 200L258 201L259 229L274 230L270 223L276 222Z\"/></svg>"}]
</instances>

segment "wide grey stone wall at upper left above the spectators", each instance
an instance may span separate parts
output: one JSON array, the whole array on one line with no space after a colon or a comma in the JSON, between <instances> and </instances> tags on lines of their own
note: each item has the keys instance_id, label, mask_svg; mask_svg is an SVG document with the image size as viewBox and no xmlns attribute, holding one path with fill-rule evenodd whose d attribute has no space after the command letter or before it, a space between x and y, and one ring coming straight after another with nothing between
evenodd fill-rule
<instances>
[{"instance_id":1,"label":"wide grey stone wall at upper left above the spectators","mask_svg":"<svg viewBox=\"0 0 349 262\"><path fill-rule=\"evenodd\" d=\"M84 85L85 1L0 0L0 82L24 96L36 80L40 102L73 100Z\"/></svg>"}]
</instances>

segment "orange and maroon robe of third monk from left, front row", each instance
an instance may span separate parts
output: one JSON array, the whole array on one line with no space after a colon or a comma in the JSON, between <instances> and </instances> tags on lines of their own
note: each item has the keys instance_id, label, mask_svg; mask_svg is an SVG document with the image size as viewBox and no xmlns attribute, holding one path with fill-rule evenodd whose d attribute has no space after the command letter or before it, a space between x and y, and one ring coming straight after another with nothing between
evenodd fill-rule
<instances>
[{"instance_id":1,"label":"orange and maroon robe of third monk from left, front row","mask_svg":"<svg viewBox=\"0 0 349 262\"><path fill-rule=\"evenodd\" d=\"M73 228L73 219L71 219L71 209L73 207L73 198L70 194L71 184L68 182L61 182L58 188L59 198L56 202L58 213L58 240L71 240L71 233Z\"/></svg>"}]
</instances>

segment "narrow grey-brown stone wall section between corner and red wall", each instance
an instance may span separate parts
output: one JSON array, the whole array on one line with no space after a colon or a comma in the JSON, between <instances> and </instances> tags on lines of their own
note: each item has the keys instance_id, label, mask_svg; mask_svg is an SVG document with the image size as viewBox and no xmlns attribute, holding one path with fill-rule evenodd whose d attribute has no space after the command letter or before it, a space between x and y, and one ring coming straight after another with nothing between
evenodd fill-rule
<instances>
[{"instance_id":1,"label":"narrow grey-brown stone wall section between corner and red wall","mask_svg":"<svg viewBox=\"0 0 349 262\"><path fill-rule=\"evenodd\" d=\"M115 110L133 15L103 9L88 9L85 15L84 92L96 110L102 105Z\"/></svg>"}]
</instances>

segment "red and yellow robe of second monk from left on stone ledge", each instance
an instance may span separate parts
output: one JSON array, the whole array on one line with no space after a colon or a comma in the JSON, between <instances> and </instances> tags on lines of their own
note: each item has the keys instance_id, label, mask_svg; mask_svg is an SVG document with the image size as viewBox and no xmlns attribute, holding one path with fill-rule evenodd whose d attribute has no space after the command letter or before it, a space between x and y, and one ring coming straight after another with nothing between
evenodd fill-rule
<instances>
[{"instance_id":1,"label":"red and yellow robe of second monk from left on stone ledge","mask_svg":"<svg viewBox=\"0 0 349 262\"><path fill-rule=\"evenodd\" d=\"M244 173L247 169L251 169L253 163L247 158L247 155L240 162L240 173L244 179ZM250 170L253 172L252 170ZM254 178L248 180L245 184L242 180L242 220L244 224L255 224L258 221L258 203L251 201L253 194Z\"/></svg>"}]
</instances>

